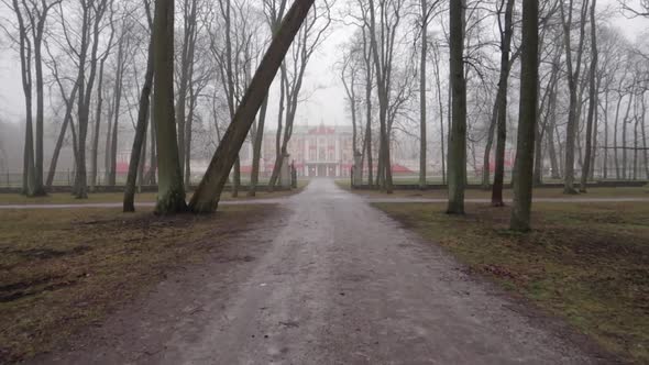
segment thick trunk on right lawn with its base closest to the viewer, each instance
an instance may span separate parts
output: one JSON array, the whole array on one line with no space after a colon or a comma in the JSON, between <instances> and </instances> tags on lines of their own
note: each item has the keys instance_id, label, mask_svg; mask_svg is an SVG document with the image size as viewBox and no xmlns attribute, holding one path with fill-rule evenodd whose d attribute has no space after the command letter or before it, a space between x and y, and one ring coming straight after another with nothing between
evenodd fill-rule
<instances>
[{"instance_id":1,"label":"thick trunk on right lawn with its base closest to the viewer","mask_svg":"<svg viewBox=\"0 0 649 365\"><path fill-rule=\"evenodd\" d=\"M520 117L516 154L516 184L510 229L529 231L531 218L535 133L539 84L539 1L522 3L522 53L520 71Z\"/></svg>"}]
</instances>

